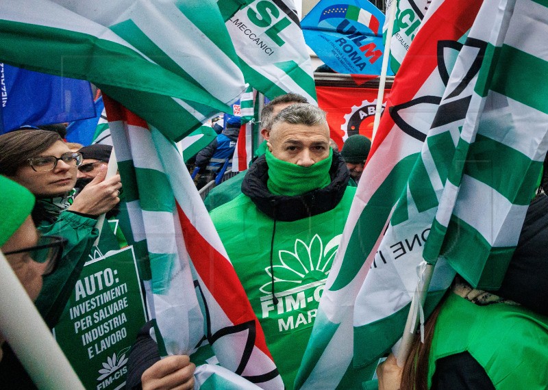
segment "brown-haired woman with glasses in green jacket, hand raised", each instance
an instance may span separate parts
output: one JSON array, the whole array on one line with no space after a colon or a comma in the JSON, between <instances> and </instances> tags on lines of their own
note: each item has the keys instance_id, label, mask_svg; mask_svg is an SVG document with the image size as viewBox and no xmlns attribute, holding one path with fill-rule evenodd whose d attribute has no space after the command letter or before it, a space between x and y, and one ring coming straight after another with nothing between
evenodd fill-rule
<instances>
[{"instance_id":1,"label":"brown-haired woman with glasses in green jacket, hand raised","mask_svg":"<svg viewBox=\"0 0 548 390\"><path fill-rule=\"evenodd\" d=\"M0 135L0 174L36 196L32 218L42 235L67 239L58 270L44 279L36 307L53 328L97 237L97 217L119 203L119 175L98 175L76 198L82 155L53 131L24 129ZM13 200L14 203L17 199Z\"/></svg>"}]
</instances>

